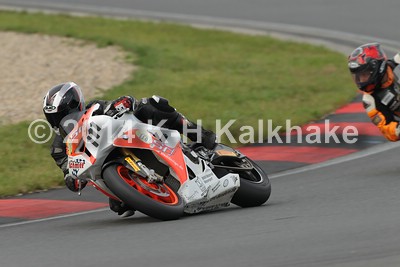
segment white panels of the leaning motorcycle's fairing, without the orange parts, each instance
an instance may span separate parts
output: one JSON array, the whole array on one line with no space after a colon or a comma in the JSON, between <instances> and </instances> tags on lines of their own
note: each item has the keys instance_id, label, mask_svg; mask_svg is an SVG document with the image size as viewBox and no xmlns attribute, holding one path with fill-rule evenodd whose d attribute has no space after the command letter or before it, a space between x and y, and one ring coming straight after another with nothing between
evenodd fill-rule
<instances>
[{"instance_id":1,"label":"white panels of the leaning motorcycle's fairing, without the orange parts","mask_svg":"<svg viewBox=\"0 0 400 267\"><path fill-rule=\"evenodd\" d=\"M163 144L180 149L178 144L181 138L177 131L144 124L133 114L126 113L118 119L105 115L92 116L80 128L75 128L69 134L69 137L74 137L78 136L80 132L85 132L83 139L86 141L86 150L91 155L75 153L75 156L69 156L70 174L80 179L90 180L96 185L96 188L101 189L106 195L116 197L103 182L101 177L102 166L109 153L115 148L113 141L116 138L124 138L124 133L131 129L138 129L136 138L142 142L153 140L150 135L157 136L161 133L164 137L162 139ZM138 134L139 132L140 134ZM157 147L153 149L156 150ZM198 157L193 151L191 156L197 159L194 160L195 162L191 161L185 154L183 156L187 166L182 163L183 166L179 166L179 168L186 170L187 167L195 175L193 179L187 179L181 184L178 190L178 194L185 204L184 211L186 213L198 213L228 206L240 186L239 175L232 173L218 178L209 167L209 162ZM156 157L162 163L168 165L162 158L157 155ZM177 177L172 166L169 166L169 169L178 181L182 180L182 177Z\"/></svg>"}]
</instances>

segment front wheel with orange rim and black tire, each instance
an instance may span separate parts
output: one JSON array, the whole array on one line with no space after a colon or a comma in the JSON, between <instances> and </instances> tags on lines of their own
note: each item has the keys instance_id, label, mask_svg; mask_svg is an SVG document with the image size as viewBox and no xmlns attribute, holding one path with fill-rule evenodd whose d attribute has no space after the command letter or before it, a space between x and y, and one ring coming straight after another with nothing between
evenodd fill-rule
<instances>
[{"instance_id":1,"label":"front wheel with orange rim and black tire","mask_svg":"<svg viewBox=\"0 0 400 267\"><path fill-rule=\"evenodd\" d=\"M163 221L176 220L183 215L183 200L168 185L146 184L146 179L139 180L137 176L131 179L132 177L133 173L119 164L111 164L103 171L107 187L129 207ZM157 188L150 186L158 187L162 192L156 192ZM157 193L163 194L162 197L158 198Z\"/></svg>"}]
</instances>

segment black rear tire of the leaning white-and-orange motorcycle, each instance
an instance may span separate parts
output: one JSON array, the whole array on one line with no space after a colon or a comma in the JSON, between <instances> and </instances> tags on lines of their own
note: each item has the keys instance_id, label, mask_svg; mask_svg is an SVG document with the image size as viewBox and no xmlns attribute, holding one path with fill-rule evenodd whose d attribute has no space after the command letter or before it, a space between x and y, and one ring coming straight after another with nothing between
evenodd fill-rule
<instances>
[{"instance_id":1,"label":"black rear tire of the leaning white-and-orange motorcycle","mask_svg":"<svg viewBox=\"0 0 400 267\"><path fill-rule=\"evenodd\" d=\"M252 160L252 171L238 172L240 187L232 198L232 203L240 207L255 207L267 202L271 195L271 183L267 174Z\"/></svg>"}]
</instances>

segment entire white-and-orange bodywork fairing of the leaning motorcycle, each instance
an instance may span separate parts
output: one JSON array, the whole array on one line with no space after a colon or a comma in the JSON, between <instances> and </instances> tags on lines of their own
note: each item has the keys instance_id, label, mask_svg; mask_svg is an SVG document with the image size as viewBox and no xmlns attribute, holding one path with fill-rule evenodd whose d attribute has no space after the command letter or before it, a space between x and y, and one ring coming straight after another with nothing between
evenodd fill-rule
<instances>
[{"instance_id":1,"label":"entire white-and-orange bodywork fairing of the leaning motorcycle","mask_svg":"<svg viewBox=\"0 0 400 267\"><path fill-rule=\"evenodd\" d=\"M240 186L239 175L228 173L218 178L204 159L198 157L191 161L182 151L177 131L141 123L132 114L124 114L119 119L92 116L95 110L96 105L82 116L67 136L68 164L72 175L89 178L97 189L117 199L101 179L107 155L115 147L150 150L158 160L169 166L171 174L180 181L178 193L184 201L185 212L215 210L230 204ZM233 157L229 149L219 155L221 158L227 156ZM129 159L123 160L132 164ZM135 169L135 164L131 167ZM188 169L194 174L191 180Z\"/></svg>"}]
</instances>

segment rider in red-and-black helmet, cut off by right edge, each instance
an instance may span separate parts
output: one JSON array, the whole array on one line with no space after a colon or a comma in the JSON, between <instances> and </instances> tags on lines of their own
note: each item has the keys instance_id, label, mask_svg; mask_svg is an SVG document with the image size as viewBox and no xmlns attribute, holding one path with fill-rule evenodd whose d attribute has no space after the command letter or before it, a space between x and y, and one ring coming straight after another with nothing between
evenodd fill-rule
<instances>
[{"instance_id":1,"label":"rider in red-and-black helmet, cut off by right edge","mask_svg":"<svg viewBox=\"0 0 400 267\"><path fill-rule=\"evenodd\" d=\"M386 139L400 140L400 84L396 75L400 54L388 59L379 43L356 48L348 57L348 67L371 121Z\"/></svg>"}]
</instances>

